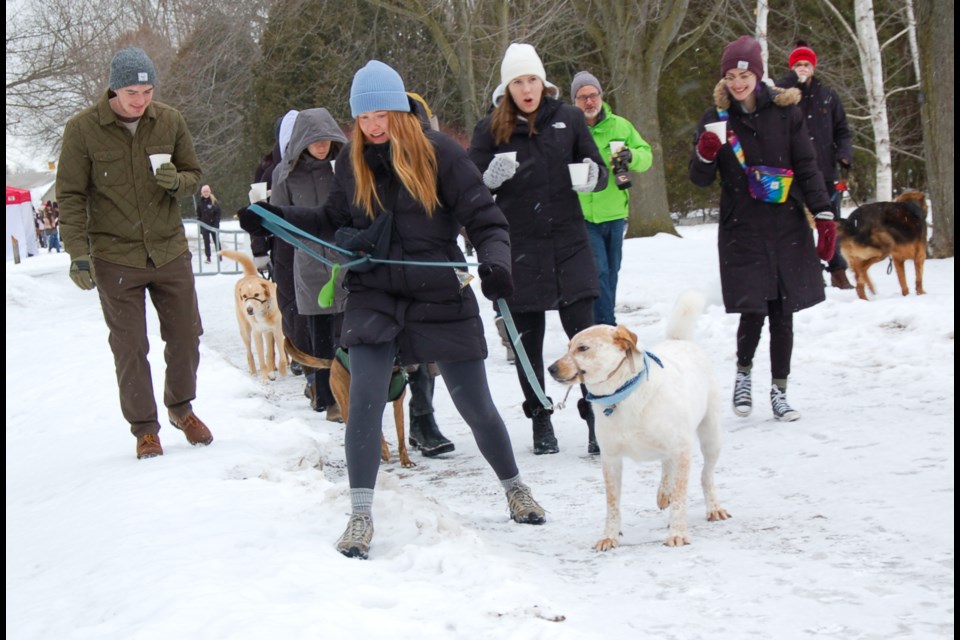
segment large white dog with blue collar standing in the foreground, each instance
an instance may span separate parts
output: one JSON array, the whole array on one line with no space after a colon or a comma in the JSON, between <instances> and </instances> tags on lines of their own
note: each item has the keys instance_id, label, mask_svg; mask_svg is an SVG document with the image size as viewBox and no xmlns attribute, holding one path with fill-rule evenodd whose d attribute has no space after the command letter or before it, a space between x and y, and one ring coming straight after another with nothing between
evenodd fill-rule
<instances>
[{"instance_id":1,"label":"large white dog with blue collar standing in the foreground","mask_svg":"<svg viewBox=\"0 0 960 640\"><path fill-rule=\"evenodd\" d=\"M607 519L598 551L618 546L623 458L660 460L657 506L670 507L664 544L689 544L687 484L694 440L703 452L700 482L707 520L726 520L713 484L720 455L720 400L707 354L691 342L703 297L681 294L667 325L667 339L647 351L623 326L597 325L570 340L567 354L549 367L564 384L583 384L596 414Z\"/></svg>"}]
</instances>

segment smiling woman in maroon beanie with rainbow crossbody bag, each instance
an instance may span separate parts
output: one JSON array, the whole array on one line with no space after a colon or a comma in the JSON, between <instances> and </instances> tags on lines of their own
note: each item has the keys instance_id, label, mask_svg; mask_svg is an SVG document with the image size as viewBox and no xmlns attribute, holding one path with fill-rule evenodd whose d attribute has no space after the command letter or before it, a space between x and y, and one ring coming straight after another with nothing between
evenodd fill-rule
<instances>
[{"instance_id":1,"label":"smiling woman in maroon beanie with rainbow crossbody bag","mask_svg":"<svg viewBox=\"0 0 960 640\"><path fill-rule=\"evenodd\" d=\"M723 50L720 75L715 106L697 125L689 173L701 187L720 176L720 284L727 313L740 314L733 410L741 417L752 410L753 357L769 317L770 404L774 418L792 422L800 418L786 395L793 314L825 298L817 254L833 250L827 238L831 230L836 235L836 223L796 106L800 91L760 82L760 44L749 36ZM720 122L726 123L722 138L706 129ZM761 180L761 173L775 177ZM816 212L823 239L816 248L804 204Z\"/></svg>"}]
</instances>

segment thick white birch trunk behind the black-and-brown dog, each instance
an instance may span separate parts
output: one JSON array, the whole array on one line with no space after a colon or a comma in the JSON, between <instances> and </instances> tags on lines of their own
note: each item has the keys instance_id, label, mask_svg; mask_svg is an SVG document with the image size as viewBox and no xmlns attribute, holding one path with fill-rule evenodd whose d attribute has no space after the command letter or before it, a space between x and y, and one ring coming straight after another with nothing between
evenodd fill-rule
<instances>
[{"instance_id":1,"label":"thick white birch trunk behind the black-and-brown dog","mask_svg":"<svg viewBox=\"0 0 960 640\"><path fill-rule=\"evenodd\" d=\"M866 84L870 123L873 125L874 146L877 153L876 199L880 202L888 202L893 199L890 124L887 120L883 59L880 56L877 23L873 17L873 0L856 0L853 9L857 23L857 40L860 44L860 68L863 70L863 81Z\"/></svg>"}]
</instances>

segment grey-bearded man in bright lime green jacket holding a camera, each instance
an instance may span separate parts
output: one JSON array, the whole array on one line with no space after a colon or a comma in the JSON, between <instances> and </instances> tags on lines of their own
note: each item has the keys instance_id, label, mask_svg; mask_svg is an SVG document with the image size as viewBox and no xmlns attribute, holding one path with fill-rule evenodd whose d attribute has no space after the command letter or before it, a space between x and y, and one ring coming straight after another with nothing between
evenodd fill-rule
<instances>
[{"instance_id":1,"label":"grey-bearded man in bright lime green jacket holding a camera","mask_svg":"<svg viewBox=\"0 0 960 640\"><path fill-rule=\"evenodd\" d=\"M628 170L639 173L649 169L653 152L630 121L613 113L603 102L603 89L593 74L581 71L575 75L570 95L587 118L590 133L608 168L609 178L603 191L580 193L579 196L600 277L600 297L593 305L593 319L597 324L615 325L617 276L630 214Z\"/></svg>"}]
</instances>

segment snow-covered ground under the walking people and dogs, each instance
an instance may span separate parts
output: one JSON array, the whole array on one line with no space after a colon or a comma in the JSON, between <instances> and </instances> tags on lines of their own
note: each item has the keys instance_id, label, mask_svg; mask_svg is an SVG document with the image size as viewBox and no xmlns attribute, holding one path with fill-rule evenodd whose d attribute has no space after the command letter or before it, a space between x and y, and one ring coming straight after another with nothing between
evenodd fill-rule
<instances>
[{"instance_id":1,"label":"snow-covered ground under the walking people and dogs","mask_svg":"<svg viewBox=\"0 0 960 640\"><path fill-rule=\"evenodd\" d=\"M737 317L721 305L716 231L628 240L618 320L656 342L678 292L701 289L697 340L726 398ZM593 550L600 460L573 401L555 414L560 453L533 455L491 312L493 394L548 522L509 520L438 383L456 451L381 467L368 561L333 548L349 511L344 427L310 410L303 378L247 374L236 276L197 279L194 406L215 442L193 448L165 427L165 455L138 461L96 294L73 286L68 265L44 253L6 268L9 638L953 637L953 259L926 263L926 296L901 297L877 266L872 301L828 289L795 317L799 422L771 417L764 332L753 415L724 411L717 486L733 519L705 520L697 452L683 548L662 545L659 465L627 462L622 546ZM150 330L159 398L152 317ZM547 358L565 347L550 314ZM563 396L552 381L547 392Z\"/></svg>"}]
</instances>

